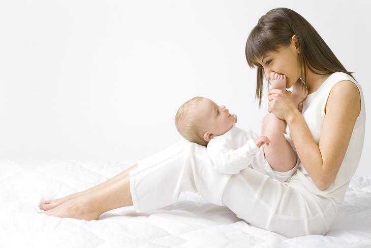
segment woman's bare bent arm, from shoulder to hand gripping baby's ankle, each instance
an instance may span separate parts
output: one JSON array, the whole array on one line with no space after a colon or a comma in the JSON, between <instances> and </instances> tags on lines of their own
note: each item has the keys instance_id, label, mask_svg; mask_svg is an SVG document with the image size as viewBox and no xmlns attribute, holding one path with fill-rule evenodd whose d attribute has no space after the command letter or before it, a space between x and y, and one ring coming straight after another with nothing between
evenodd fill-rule
<instances>
[{"instance_id":1,"label":"woman's bare bent arm, from shoulder to hand gripping baby's ankle","mask_svg":"<svg viewBox=\"0 0 371 248\"><path fill-rule=\"evenodd\" d=\"M332 87L325 107L326 116L319 145L314 141L299 111L290 103L291 97L276 90L270 91L269 94L268 111L270 109L279 115L277 117L286 120L305 170L319 189L328 188L343 162L354 124L360 113L357 86L346 80Z\"/></svg>"}]
</instances>

